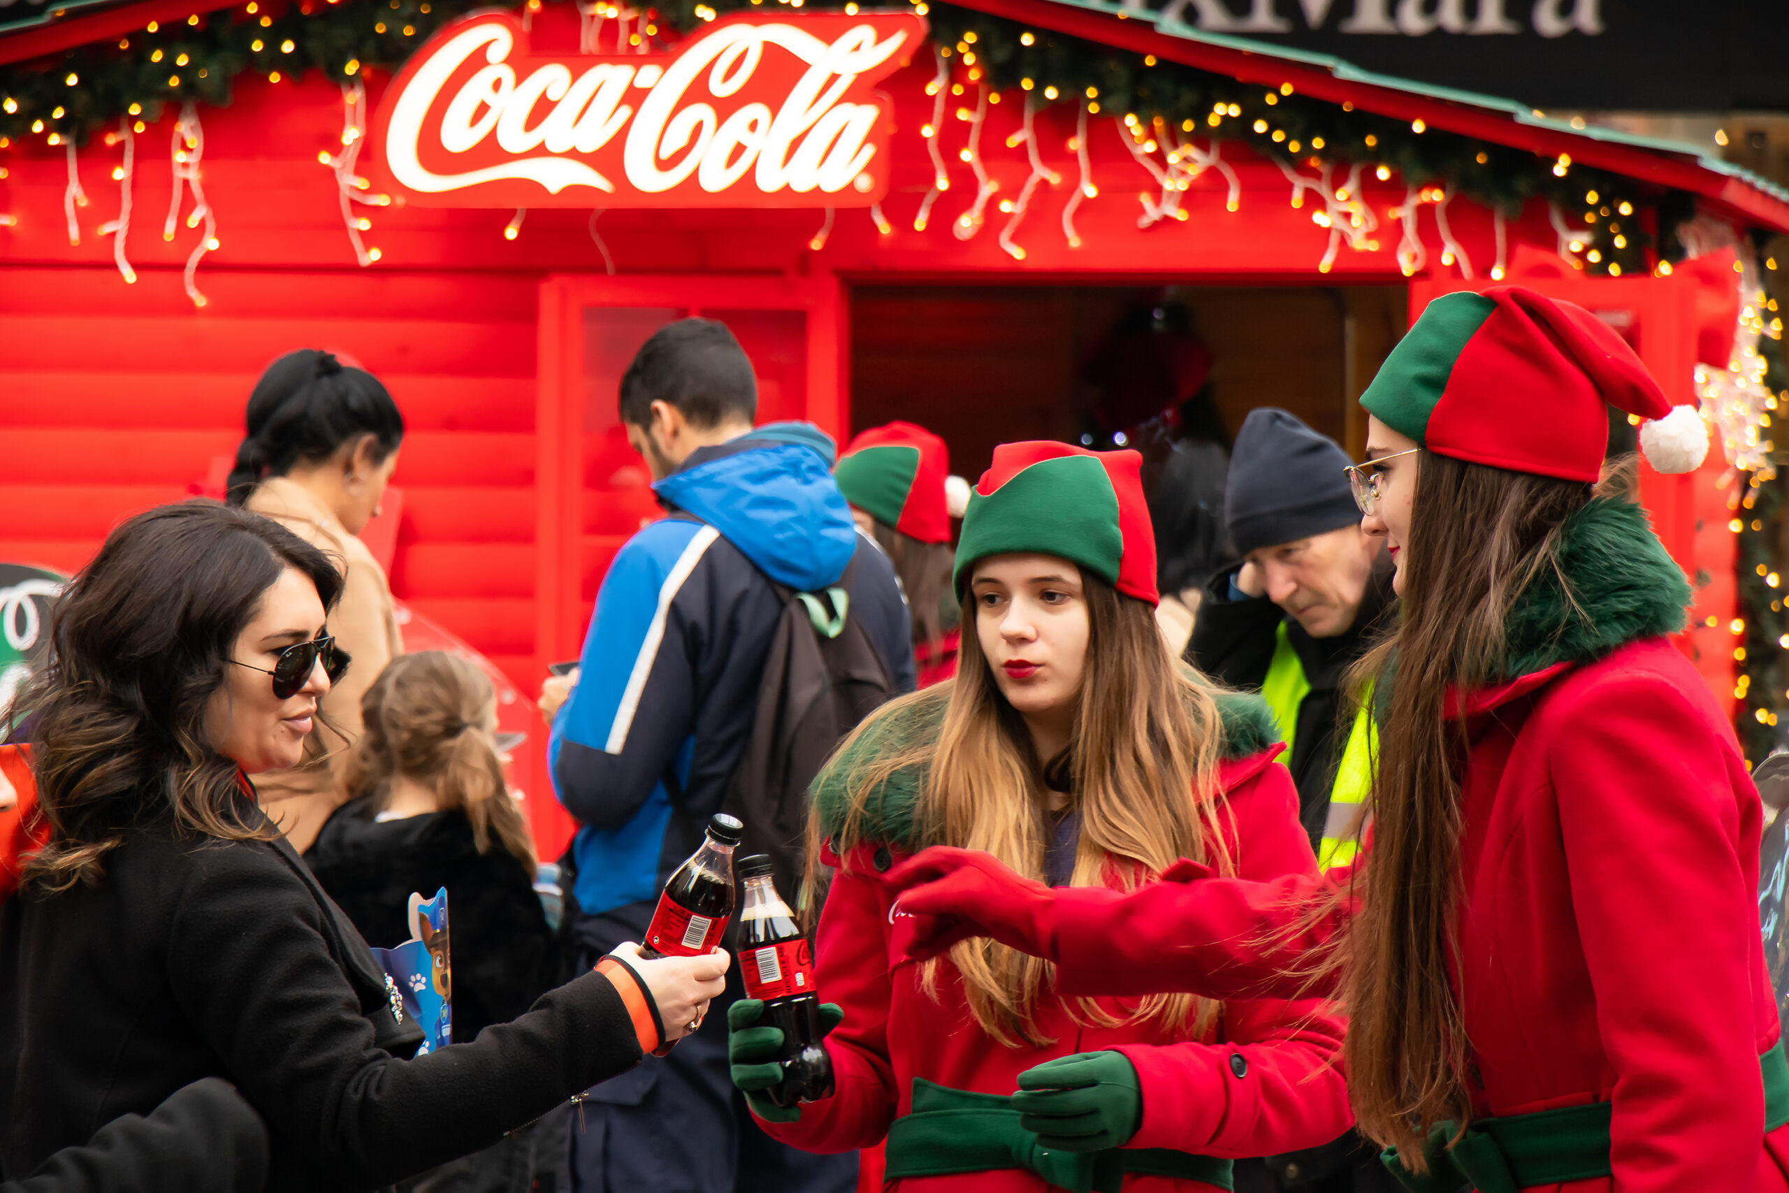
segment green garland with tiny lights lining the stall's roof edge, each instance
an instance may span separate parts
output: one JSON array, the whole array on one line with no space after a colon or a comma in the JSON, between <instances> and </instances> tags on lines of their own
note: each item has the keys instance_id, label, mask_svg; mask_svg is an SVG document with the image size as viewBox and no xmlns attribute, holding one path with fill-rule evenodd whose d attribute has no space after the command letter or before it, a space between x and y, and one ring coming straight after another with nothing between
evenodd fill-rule
<instances>
[{"instance_id":1,"label":"green garland with tiny lights lining the stall's roof edge","mask_svg":"<svg viewBox=\"0 0 1789 1193\"><path fill-rule=\"evenodd\" d=\"M487 4L256 0L86 45L0 72L0 138L84 143L123 118L156 120L166 104L227 106L231 84L243 72L297 79L306 70L320 70L347 80L370 66L395 68L444 21ZM667 27L687 30L712 20L716 9L753 7L766 7L764 0L717 0L716 5L666 0L655 13ZM1565 213L1581 245L1580 265L1592 274L1632 274L1682 256L1669 229L1692 211L1692 199L1678 191L1413 127L1354 111L1351 104L1268 91L1229 75L1030 30L971 9L918 7L930 18L932 38L952 59L957 79L996 91L1023 89L1043 104L1090 104L1098 114L1131 114L1145 136L1150 129L1174 125L1181 136L1243 141L1288 165L1315 156L1386 166L1410 186L1453 186L1505 215L1544 199ZM648 32L657 30L649 25Z\"/></svg>"}]
</instances>

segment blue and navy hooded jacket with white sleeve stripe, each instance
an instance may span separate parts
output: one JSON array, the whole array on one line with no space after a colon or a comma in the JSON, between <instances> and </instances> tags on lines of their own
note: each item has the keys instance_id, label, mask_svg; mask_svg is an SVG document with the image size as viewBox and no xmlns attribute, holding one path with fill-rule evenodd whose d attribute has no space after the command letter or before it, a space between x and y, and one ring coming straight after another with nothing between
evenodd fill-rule
<instances>
[{"instance_id":1,"label":"blue and navy hooded jacket with white sleeve stripe","mask_svg":"<svg viewBox=\"0 0 1789 1193\"><path fill-rule=\"evenodd\" d=\"M547 742L553 783L580 821L572 893L585 914L642 903L696 848L671 814L669 776L699 825L721 808L751 733L764 660L796 592L839 581L853 558L862 617L898 690L912 690L912 630L894 569L852 522L828 472L832 444L769 424L691 453L653 485L674 515L615 554L596 597L580 680ZM699 830L698 830L699 833Z\"/></svg>"}]
</instances>

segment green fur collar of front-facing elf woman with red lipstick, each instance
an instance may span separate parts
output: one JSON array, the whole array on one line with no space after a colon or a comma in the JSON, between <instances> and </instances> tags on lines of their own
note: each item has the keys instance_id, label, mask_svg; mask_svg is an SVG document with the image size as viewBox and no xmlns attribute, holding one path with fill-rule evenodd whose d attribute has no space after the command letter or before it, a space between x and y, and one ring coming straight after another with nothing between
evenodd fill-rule
<instances>
[{"instance_id":1,"label":"green fur collar of front-facing elf woman with red lipstick","mask_svg":"<svg viewBox=\"0 0 1789 1193\"><path fill-rule=\"evenodd\" d=\"M1274 714L1259 696L1247 692L1217 692L1215 696L1224 723L1224 758L1247 758L1279 742ZM862 733L827 762L809 792L823 835L832 837L844 825L850 812L850 791L857 785L853 774L893 749L936 739L948 703L950 685L946 683L887 705L873 714ZM859 835L864 841L889 841L918 848L914 812L925 778L925 766L907 767L889 776L882 789L869 796Z\"/></svg>"}]
</instances>

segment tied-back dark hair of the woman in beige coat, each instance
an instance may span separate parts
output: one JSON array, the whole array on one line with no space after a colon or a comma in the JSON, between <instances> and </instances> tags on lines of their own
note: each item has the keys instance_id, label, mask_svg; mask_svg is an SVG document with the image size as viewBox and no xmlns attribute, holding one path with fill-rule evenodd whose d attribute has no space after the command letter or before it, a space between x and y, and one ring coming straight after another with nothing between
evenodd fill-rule
<instances>
[{"instance_id":1,"label":"tied-back dark hair of the woman in beige coat","mask_svg":"<svg viewBox=\"0 0 1789 1193\"><path fill-rule=\"evenodd\" d=\"M286 352L249 393L249 435L236 447L229 503L240 506L254 487L297 463L329 460L342 444L370 435L374 463L404 440L404 417L379 379L343 367L331 352Z\"/></svg>"}]
</instances>

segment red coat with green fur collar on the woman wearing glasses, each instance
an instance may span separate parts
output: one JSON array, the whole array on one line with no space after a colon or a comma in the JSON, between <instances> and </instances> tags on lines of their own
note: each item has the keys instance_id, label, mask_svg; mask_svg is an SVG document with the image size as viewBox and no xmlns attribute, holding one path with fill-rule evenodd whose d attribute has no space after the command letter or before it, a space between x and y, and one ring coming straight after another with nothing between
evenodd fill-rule
<instances>
[{"instance_id":1,"label":"red coat with green fur collar on the woman wearing glasses","mask_svg":"<svg viewBox=\"0 0 1789 1193\"><path fill-rule=\"evenodd\" d=\"M1547 576L1522 594L1505 626L1517 678L1460 710L1454 989L1474 1113L1612 1104L1614 1175L1547 1193L1784 1193L1789 1127L1764 1134L1759 1079L1780 1030L1757 914L1762 807L1732 726L1660 637L1682 628L1689 585L1635 506L1592 503L1562 531L1571 596ZM1027 946L1066 993L1261 996L1295 986L1288 966L1347 914L1276 937L1349 871L1208 873L1177 862L1134 894L1056 891ZM977 912L988 894L959 901L928 910L954 932L1004 925ZM1272 939L1286 948L1265 952Z\"/></svg>"}]
</instances>

